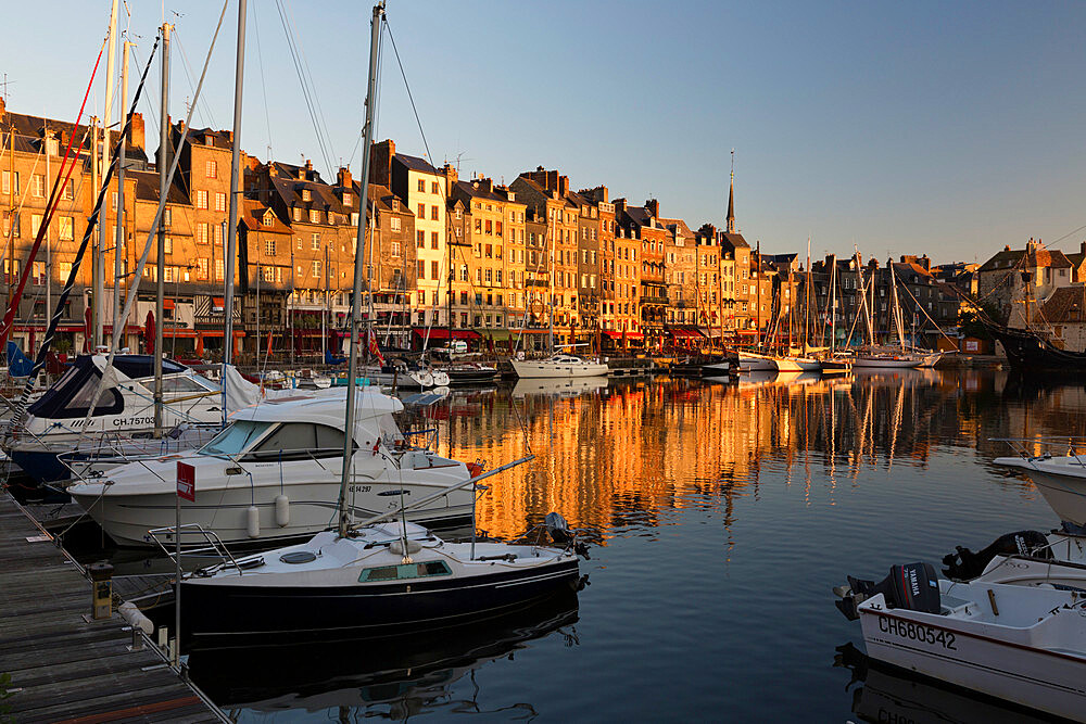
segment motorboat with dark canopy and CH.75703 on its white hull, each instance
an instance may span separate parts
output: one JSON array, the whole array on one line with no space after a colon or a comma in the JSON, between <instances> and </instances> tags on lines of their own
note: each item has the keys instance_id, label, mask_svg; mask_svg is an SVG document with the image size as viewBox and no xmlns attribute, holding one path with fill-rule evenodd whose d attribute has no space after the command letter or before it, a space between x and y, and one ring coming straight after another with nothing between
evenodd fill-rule
<instances>
[{"instance_id":1,"label":"motorboat with dark canopy and CH.75703 on its white hull","mask_svg":"<svg viewBox=\"0 0 1086 724\"><path fill-rule=\"evenodd\" d=\"M11 430L4 446L26 474L52 482L72 477L58 454L139 454L146 448L173 453L205 442L199 437L200 428L223 424L222 388L185 365L162 360L162 395L160 430L167 434L148 442L155 429L154 358L115 355L110 367L104 354L80 355L30 404L26 419ZM182 430L184 435L169 432ZM132 440L137 442L129 445Z\"/></svg>"}]
</instances>

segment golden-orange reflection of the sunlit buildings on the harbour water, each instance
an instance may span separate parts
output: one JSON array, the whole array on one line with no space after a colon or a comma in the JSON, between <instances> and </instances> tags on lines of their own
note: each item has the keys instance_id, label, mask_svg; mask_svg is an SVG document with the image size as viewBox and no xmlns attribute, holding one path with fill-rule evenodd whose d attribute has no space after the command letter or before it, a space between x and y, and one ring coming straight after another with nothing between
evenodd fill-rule
<instances>
[{"instance_id":1,"label":"golden-orange reflection of the sunlit buildings on the harbour water","mask_svg":"<svg viewBox=\"0 0 1086 724\"><path fill-rule=\"evenodd\" d=\"M861 467L926 467L933 443L981 447L1015 419L1013 405L993 414L1003 405L990 380L905 370L755 388L613 382L576 397L454 396L430 414L442 453L488 468L536 456L488 481L481 529L514 536L556 510L606 537L689 507L719 510L729 525L736 500L757 497L759 485L804 485L810 495L855 480Z\"/></svg>"}]
</instances>

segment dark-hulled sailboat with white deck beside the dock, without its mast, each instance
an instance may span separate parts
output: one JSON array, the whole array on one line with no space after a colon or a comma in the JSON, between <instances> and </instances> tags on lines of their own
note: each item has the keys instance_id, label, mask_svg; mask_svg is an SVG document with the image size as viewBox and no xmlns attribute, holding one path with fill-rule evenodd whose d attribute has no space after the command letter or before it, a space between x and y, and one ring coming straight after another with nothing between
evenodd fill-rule
<instances>
[{"instance_id":1,"label":"dark-hulled sailboat with white deck beside the dock, without its mast","mask_svg":"<svg viewBox=\"0 0 1086 724\"><path fill-rule=\"evenodd\" d=\"M581 544L564 520L552 537L564 545L449 543L402 520L317 533L185 577L182 640L194 649L396 635L495 615L580 586Z\"/></svg>"}]
</instances>

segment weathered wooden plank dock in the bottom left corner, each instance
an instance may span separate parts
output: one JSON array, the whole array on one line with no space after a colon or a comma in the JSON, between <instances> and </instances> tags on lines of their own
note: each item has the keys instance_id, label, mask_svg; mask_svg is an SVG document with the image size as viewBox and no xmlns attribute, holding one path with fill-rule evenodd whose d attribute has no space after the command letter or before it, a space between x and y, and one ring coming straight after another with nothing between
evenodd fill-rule
<instances>
[{"instance_id":1,"label":"weathered wooden plank dock in the bottom left corner","mask_svg":"<svg viewBox=\"0 0 1086 724\"><path fill-rule=\"evenodd\" d=\"M14 691L0 707L21 723L223 721L155 651L127 649L116 613L83 618L90 582L51 541L27 541L40 535L0 492L0 673Z\"/></svg>"}]
</instances>

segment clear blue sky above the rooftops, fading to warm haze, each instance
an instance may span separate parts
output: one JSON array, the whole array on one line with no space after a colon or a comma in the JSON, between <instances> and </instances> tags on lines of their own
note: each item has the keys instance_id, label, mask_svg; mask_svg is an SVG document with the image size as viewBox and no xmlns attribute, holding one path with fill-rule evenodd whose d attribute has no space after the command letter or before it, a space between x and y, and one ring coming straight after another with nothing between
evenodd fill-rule
<instances>
[{"instance_id":1,"label":"clear blue sky above the rooftops, fading to warm haze","mask_svg":"<svg viewBox=\"0 0 1086 724\"><path fill-rule=\"evenodd\" d=\"M140 67L163 15L175 25L175 118L222 9L128 0L122 10ZM358 173L370 10L250 0L247 152L312 158L325 178L349 162ZM9 110L74 119L109 13L109 0L7 10ZM656 198L661 215L696 229L723 225L734 150L737 225L767 253L804 255L810 237L815 256L855 245L881 261L984 262L1030 238L1068 252L1086 240L1086 3L389 0L387 16L409 86L386 35L377 138L413 155L429 149L462 178L558 168L573 189ZM232 123L237 17L230 0L197 127ZM103 60L98 115L104 78ZM150 145L159 97L155 63L139 107Z\"/></svg>"}]
</instances>

